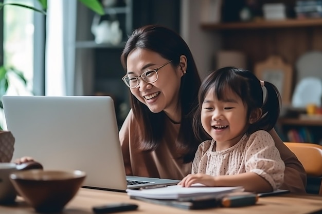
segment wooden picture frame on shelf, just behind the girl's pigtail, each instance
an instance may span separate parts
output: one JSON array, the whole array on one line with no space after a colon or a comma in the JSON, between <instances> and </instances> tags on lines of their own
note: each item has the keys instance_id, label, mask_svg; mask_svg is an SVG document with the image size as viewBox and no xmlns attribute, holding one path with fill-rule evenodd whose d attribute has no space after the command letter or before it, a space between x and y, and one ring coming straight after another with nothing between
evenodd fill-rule
<instances>
[{"instance_id":1,"label":"wooden picture frame on shelf, just behind the girl's pigtail","mask_svg":"<svg viewBox=\"0 0 322 214\"><path fill-rule=\"evenodd\" d=\"M282 57L272 55L265 61L255 64L254 71L259 80L276 86L283 104L291 103L293 69L290 64L283 62Z\"/></svg>"}]
</instances>

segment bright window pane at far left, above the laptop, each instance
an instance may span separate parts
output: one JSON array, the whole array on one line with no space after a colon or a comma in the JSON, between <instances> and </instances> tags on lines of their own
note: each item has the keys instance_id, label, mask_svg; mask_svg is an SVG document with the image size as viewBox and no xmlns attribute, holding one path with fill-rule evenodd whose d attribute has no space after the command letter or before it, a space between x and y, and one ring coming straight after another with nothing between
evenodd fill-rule
<instances>
[{"instance_id":1,"label":"bright window pane at far left, above the laptop","mask_svg":"<svg viewBox=\"0 0 322 214\"><path fill-rule=\"evenodd\" d=\"M33 0L5 0L4 3L20 3L34 6ZM33 39L34 39L34 12L33 10L5 6L4 9L4 65L12 66L24 73L28 85L9 75L9 88L7 94L31 94L33 89Z\"/></svg>"}]
</instances>

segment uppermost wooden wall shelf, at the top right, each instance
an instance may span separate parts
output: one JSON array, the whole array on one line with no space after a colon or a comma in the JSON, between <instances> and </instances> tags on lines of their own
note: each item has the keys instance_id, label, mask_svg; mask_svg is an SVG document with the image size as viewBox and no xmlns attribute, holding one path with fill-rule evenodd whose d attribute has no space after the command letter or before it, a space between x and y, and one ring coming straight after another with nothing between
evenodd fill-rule
<instances>
[{"instance_id":1,"label":"uppermost wooden wall shelf, at the top right","mask_svg":"<svg viewBox=\"0 0 322 214\"><path fill-rule=\"evenodd\" d=\"M280 21L256 21L256 22L235 22L235 23L201 23L204 30L236 30L236 29L264 29L264 28L294 28L322 26L322 18L308 18L305 20L280 20Z\"/></svg>"}]
</instances>

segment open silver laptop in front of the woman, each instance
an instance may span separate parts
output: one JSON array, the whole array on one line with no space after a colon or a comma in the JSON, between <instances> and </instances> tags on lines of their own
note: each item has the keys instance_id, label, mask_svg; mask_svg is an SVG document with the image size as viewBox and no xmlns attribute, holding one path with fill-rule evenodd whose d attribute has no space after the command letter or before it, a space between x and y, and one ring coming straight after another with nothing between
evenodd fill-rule
<instances>
[{"instance_id":1,"label":"open silver laptop in front of the woman","mask_svg":"<svg viewBox=\"0 0 322 214\"><path fill-rule=\"evenodd\" d=\"M84 187L119 190L175 185L126 176L110 96L3 96L13 160L31 156L49 170L82 170ZM134 184L129 184L128 182Z\"/></svg>"}]
</instances>

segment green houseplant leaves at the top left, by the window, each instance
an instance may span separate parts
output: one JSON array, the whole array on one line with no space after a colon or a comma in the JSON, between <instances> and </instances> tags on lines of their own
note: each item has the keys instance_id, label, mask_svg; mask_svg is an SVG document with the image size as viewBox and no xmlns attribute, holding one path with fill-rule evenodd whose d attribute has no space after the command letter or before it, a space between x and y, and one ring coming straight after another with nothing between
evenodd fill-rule
<instances>
[{"instance_id":1,"label":"green houseplant leaves at the top left, by the window","mask_svg":"<svg viewBox=\"0 0 322 214\"><path fill-rule=\"evenodd\" d=\"M78 0L78 1L81 2L83 5L85 5L86 7L93 10L94 12L96 12L97 14L99 15L104 14L104 9L101 3L99 2L99 0ZM0 10L2 10L5 6L16 6L16 7L31 9L46 15L47 0L38 0L38 2L40 3L42 9L38 9L24 4L17 4L17 3L0 3ZM7 93L7 90L10 85L9 76L16 77L16 79L20 80L24 86L27 86L27 80L22 71L15 69L13 66L1 65L0 66L0 109L3 109L2 96ZM2 129L3 128L0 124L0 130Z\"/></svg>"}]
</instances>

